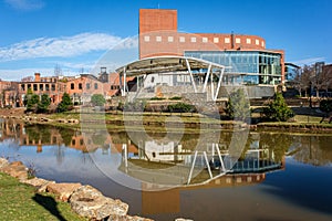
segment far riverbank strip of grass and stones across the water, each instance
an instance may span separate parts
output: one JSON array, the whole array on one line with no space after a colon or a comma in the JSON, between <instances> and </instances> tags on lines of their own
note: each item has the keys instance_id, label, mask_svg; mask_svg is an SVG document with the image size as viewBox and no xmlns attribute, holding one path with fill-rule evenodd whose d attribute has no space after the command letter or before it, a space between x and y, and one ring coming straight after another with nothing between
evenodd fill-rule
<instances>
[{"instance_id":1,"label":"far riverbank strip of grass and stones across the water","mask_svg":"<svg viewBox=\"0 0 332 221\"><path fill-rule=\"evenodd\" d=\"M221 120L197 113L122 113L73 110L62 114L24 114L24 108L0 109L1 118L14 118L28 124L49 124L54 126L82 128L106 127L108 130L125 131L142 130L165 133L167 130L184 130L197 133L204 130L259 129L281 131L317 131L332 133L332 124L322 119L322 113L308 107L293 109L295 116L291 122L260 123L257 114L252 114L257 124L248 125L242 122ZM167 127L167 129L166 129Z\"/></svg>"}]
</instances>

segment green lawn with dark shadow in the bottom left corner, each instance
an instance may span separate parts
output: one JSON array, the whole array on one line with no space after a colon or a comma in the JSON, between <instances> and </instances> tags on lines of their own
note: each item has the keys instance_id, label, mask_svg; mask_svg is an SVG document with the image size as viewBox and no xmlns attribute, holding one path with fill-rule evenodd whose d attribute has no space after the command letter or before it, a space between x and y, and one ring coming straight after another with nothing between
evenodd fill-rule
<instances>
[{"instance_id":1,"label":"green lawn with dark shadow in the bottom left corner","mask_svg":"<svg viewBox=\"0 0 332 221\"><path fill-rule=\"evenodd\" d=\"M33 187L1 172L0 204L0 220L86 220L69 203L55 201L52 194L37 193Z\"/></svg>"}]
</instances>

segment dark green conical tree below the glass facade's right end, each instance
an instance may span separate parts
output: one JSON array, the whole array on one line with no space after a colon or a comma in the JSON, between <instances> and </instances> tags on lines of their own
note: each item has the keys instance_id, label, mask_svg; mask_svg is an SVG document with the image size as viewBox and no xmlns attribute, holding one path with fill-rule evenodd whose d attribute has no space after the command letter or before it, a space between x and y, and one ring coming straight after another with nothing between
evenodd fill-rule
<instances>
[{"instance_id":1,"label":"dark green conical tree below the glass facade's right end","mask_svg":"<svg viewBox=\"0 0 332 221\"><path fill-rule=\"evenodd\" d=\"M281 93L277 93L274 99L267 103L262 114L267 119L274 122L287 122L294 115Z\"/></svg>"}]
</instances>

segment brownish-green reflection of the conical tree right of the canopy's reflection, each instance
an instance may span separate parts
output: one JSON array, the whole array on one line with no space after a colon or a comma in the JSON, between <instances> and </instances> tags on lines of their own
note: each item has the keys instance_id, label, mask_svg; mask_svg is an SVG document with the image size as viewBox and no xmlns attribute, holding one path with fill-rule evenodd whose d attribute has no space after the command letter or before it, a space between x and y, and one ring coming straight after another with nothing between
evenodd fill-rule
<instances>
[{"instance_id":1,"label":"brownish-green reflection of the conical tree right of the canopy's reflection","mask_svg":"<svg viewBox=\"0 0 332 221\"><path fill-rule=\"evenodd\" d=\"M290 135L266 133L260 134L259 148L268 148L273 150L276 161L282 160L291 144L292 137Z\"/></svg>"}]
</instances>

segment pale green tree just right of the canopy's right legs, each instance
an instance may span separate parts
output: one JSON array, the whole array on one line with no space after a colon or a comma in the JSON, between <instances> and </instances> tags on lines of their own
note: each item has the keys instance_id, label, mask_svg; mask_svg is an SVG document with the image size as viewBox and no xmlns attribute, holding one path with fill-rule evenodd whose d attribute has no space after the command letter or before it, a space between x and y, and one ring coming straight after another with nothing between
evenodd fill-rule
<instances>
[{"instance_id":1,"label":"pale green tree just right of the canopy's right legs","mask_svg":"<svg viewBox=\"0 0 332 221\"><path fill-rule=\"evenodd\" d=\"M231 119L245 120L250 117L249 99L245 95L245 91L242 88L230 93L226 106L226 113Z\"/></svg>"}]
</instances>

